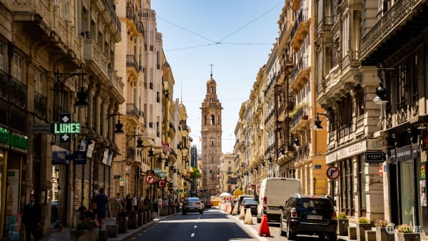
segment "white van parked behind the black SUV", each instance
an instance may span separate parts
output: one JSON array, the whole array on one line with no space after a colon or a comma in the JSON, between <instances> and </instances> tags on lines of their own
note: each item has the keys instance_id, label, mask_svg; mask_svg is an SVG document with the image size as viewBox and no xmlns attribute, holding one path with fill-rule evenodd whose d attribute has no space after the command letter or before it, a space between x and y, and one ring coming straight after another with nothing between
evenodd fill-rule
<instances>
[{"instance_id":1,"label":"white van parked behind the black SUV","mask_svg":"<svg viewBox=\"0 0 428 241\"><path fill-rule=\"evenodd\" d=\"M257 222L260 223L263 215L267 221L280 222L281 210L285 201L291 195L302 194L302 183L295 178L265 178L260 185L259 203L257 206Z\"/></svg>"}]
</instances>

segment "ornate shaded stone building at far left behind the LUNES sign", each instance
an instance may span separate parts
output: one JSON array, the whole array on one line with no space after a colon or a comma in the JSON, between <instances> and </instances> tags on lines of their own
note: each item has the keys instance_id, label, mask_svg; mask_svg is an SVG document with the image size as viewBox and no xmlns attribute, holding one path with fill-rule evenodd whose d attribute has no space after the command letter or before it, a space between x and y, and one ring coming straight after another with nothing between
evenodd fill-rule
<instances>
[{"instance_id":1,"label":"ornate shaded stone building at far left behind the LUNES sign","mask_svg":"<svg viewBox=\"0 0 428 241\"><path fill-rule=\"evenodd\" d=\"M121 25L110 1L1 1L0 9L1 140L19 140L0 148L1 237L30 194L49 233L51 222L72 226L98 188L110 192L118 152L105 117L125 101L113 61ZM51 123L76 131L52 132Z\"/></svg>"}]
</instances>

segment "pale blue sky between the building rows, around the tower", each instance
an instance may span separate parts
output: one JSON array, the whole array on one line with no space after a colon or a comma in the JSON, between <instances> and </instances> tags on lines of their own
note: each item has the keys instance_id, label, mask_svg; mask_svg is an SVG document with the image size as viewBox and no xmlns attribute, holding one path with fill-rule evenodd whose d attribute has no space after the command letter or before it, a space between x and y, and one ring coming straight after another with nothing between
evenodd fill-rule
<instances>
[{"instance_id":1,"label":"pale blue sky between the building rows, around the tower","mask_svg":"<svg viewBox=\"0 0 428 241\"><path fill-rule=\"evenodd\" d=\"M222 150L233 152L235 126L278 37L284 0L154 0L163 51L175 79L173 98L188 113L192 145L201 148L200 107L213 78L222 104ZM211 64L213 66L211 66Z\"/></svg>"}]
</instances>

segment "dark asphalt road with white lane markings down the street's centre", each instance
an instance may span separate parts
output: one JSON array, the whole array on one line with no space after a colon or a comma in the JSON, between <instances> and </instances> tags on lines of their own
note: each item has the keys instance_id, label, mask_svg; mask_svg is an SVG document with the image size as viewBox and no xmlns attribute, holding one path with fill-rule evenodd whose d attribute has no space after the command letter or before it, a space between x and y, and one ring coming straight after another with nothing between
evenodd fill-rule
<instances>
[{"instance_id":1,"label":"dark asphalt road with white lane markings down the street's centre","mask_svg":"<svg viewBox=\"0 0 428 241\"><path fill-rule=\"evenodd\" d=\"M259 236L259 224L243 224L238 215L228 215L217 208L206 209L203 215L199 212L190 212L187 215L175 215L161 222L156 223L147 230L138 233L129 240L159 240L159 241L222 241L222 240L262 240L279 241L287 240L287 237L280 236L280 225L269 224L270 237ZM318 237L298 236L296 240L315 241ZM338 240L347 240L340 239Z\"/></svg>"}]
</instances>

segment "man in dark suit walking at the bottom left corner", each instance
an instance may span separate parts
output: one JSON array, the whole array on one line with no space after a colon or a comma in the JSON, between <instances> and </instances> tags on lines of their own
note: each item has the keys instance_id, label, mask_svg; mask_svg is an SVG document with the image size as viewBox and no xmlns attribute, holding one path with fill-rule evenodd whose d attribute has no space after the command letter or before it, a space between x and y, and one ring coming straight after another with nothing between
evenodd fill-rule
<instances>
[{"instance_id":1,"label":"man in dark suit walking at the bottom left corner","mask_svg":"<svg viewBox=\"0 0 428 241\"><path fill-rule=\"evenodd\" d=\"M24 212L22 212L22 223L25 225L25 235L26 240L31 240L31 233L33 233L34 238L39 240L39 233L37 232L37 227L40 225L41 220L41 207L38 203L35 202L34 194L30 195L30 203L25 205Z\"/></svg>"}]
</instances>

